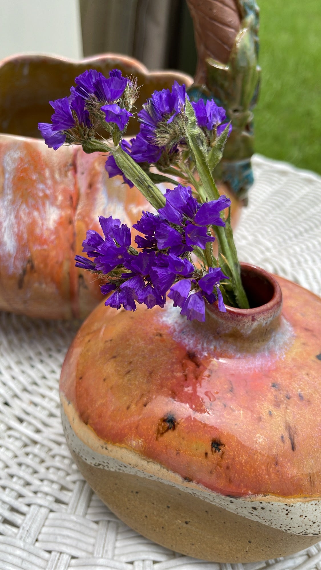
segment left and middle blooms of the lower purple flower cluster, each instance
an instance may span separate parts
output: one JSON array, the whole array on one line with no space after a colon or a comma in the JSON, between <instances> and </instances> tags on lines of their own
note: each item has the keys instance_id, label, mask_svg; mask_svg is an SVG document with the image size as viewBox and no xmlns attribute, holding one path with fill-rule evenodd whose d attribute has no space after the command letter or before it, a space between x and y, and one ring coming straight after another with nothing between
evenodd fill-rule
<instances>
[{"instance_id":1,"label":"left and middle blooms of the lower purple flower cluster","mask_svg":"<svg viewBox=\"0 0 321 570\"><path fill-rule=\"evenodd\" d=\"M164 307L168 279L171 285L177 275L191 275L192 263L172 254L157 256L155 251L134 253L130 249L129 227L112 217L101 216L99 222L105 239L97 231L89 230L83 241L83 252L93 260L82 255L75 260L77 267L108 276L109 281L102 285L101 291L112 294L105 304L117 309L123 306L127 311L135 311L135 301L145 303L148 308Z\"/></svg>"}]
</instances>

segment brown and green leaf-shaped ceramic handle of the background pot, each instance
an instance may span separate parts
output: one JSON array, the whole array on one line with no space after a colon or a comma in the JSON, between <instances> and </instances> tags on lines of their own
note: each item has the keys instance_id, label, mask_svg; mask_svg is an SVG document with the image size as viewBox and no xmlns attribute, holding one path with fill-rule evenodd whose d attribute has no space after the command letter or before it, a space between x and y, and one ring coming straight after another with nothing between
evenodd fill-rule
<instances>
[{"instance_id":1,"label":"brown and green leaf-shaped ceramic handle of the background pot","mask_svg":"<svg viewBox=\"0 0 321 570\"><path fill-rule=\"evenodd\" d=\"M192 99L214 97L232 121L232 134L216 176L239 197L253 183L253 108L258 99L260 68L259 9L254 0L187 0L194 19L200 55ZM216 35L213 38L213 30Z\"/></svg>"}]
</instances>

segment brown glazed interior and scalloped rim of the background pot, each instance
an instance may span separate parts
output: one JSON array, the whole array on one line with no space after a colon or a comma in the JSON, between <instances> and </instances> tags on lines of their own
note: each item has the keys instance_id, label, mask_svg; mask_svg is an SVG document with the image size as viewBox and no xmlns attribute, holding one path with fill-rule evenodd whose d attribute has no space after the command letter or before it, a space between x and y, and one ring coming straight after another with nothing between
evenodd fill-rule
<instances>
[{"instance_id":1,"label":"brown glazed interior and scalloped rim of the background pot","mask_svg":"<svg viewBox=\"0 0 321 570\"><path fill-rule=\"evenodd\" d=\"M170 88L174 80L192 84L189 75L179 71L149 72L137 59L103 54L81 61L48 55L16 55L0 62L0 132L40 138L38 123L49 123L53 109L49 101L69 95L77 75L88 69L108 75L117 67L124 75L134 74L141 91L137 111L155 89ZM23 96L22 96L23 93ZM139 131L130 121L127 135Z\"/></svg>"}]
</instances>

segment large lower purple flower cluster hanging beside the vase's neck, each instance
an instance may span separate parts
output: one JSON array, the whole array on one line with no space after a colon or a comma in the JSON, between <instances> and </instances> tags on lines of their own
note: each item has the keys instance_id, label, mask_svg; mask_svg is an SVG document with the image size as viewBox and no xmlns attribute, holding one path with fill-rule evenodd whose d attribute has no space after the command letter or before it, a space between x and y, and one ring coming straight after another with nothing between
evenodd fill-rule
<instances>
[{"instance_id":1,"label":"large lower purple flower cluster hanging beside the vase's neck","mask_svg":"<svg viewBox=\"0 0 321 570\"><path fill-rule=\"evenodd\" d=\"M187 319L203 321L205 302L214 303L217 298L220 310L225 310L218 288L225 276L218 268L210 268L205 275L195 270L189 252L214 241L208 226L224 225L219 214L230 200L222 196L200 205L184 186L167 190L165 196L166 205L158 215L143 212L133 226L145 234L135 238L142 251L131 248L130 229L119 219L100 217L105 239L96 231L87 231L83 252L91 259L77 255L76 266L107 276L101 291L111 293L105 303L110 307L135 311L135 302L148 308L164 307L170 290L168 296Z\"/></svg>"}]
</instances>

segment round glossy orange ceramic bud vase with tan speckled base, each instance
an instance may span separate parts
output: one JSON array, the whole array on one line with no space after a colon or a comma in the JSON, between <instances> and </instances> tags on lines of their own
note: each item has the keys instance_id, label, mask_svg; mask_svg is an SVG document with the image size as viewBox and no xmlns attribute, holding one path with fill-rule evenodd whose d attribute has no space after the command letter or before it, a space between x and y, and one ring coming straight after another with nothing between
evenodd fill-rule
<instances>
[{"instance_id":1,"label":"round glossy orange ceramic bud vase with tan speckled base","mask_svg":"<svg viewBox=\"0 0 321 570\"><path fill-rule=\"evenodd\" d=\"M321 300L242 265L251 308L206 321L107 309L61 374L81 473L125 523L186 555L249 562L321 536ZM282 306L283 297L283 306Z\"/></svg>"}]
</instances>

